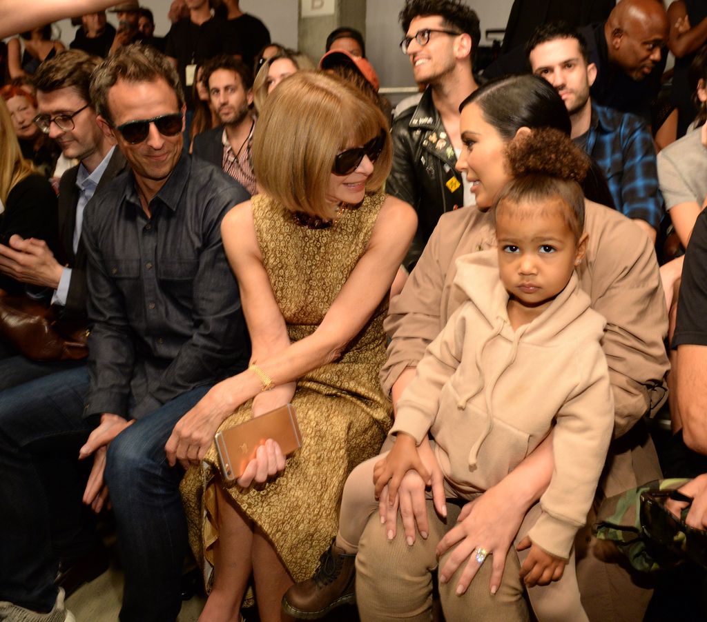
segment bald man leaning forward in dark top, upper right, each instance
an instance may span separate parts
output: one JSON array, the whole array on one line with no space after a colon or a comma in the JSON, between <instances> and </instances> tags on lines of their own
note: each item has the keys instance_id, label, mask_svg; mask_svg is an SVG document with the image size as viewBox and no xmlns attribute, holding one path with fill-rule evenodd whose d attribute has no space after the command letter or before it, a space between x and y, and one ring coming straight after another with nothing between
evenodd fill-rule
<instances>
[{"instance_id":1,"label":"bald man leaning forward in dark top, upper right","mask_svg":"<svg viewBox=\"0 0 707 622\"><path fill-rule=\"evenodd\" d=\"M621 0L605 23L580 29L597 66L592 100L650 124L648 104L660 90L668 30L659 0Z\"/></svg>"}]
</instances>

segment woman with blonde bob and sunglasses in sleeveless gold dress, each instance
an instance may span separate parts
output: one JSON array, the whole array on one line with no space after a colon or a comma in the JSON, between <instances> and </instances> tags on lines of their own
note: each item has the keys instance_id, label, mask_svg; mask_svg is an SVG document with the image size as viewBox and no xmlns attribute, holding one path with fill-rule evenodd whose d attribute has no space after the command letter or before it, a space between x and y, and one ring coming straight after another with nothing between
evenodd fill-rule
<instances>
[{"instance_id":1,"label":"woman with blonde bob and sunglasses in sleeveless gold dress","mask_svg":"<svg viewBox=\"0 0 707 622\"><path fill-rule=\"evenodd\" d=\"M386 126L351 85L310 71L279 85L257 123L262 194L221 226L251 365L214 386L168 442L168 456L192 465L182 498L211 587L202 622L238 618L251 572L260 619L282 619L284 592L314 573L337 532L346 477L378 452L392 423L378 382L382 321L416 216L381 191L391 165ZM226 487L216 430L287 403L302 446L286 459L268 439L238 486Z\"/></svg>"}]
</instances>

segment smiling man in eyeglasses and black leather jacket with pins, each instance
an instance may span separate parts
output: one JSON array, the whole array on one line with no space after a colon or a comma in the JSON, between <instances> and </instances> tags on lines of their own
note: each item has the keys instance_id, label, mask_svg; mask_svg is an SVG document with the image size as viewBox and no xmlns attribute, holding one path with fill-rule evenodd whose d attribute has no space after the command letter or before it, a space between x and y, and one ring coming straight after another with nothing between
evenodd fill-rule
<instances>
[{"instance_id":1,"label":"smiling man in eyeglasses and black leather jacket with pins","mask_svg":"<svg viewBox=\"0 0 707 622\"><path fill-rule=\"evenodd\" d=\"M459 105L477 89L472 73L481 33L479 18L459 0L407 0L400 12L407 54L417 83L427 85L419 104L393 121L393 167L386 191L417 211L418 226L404 261L408 271L445 212L474 205L455 165L462 149Z\"/></svg>"}]
</instances>

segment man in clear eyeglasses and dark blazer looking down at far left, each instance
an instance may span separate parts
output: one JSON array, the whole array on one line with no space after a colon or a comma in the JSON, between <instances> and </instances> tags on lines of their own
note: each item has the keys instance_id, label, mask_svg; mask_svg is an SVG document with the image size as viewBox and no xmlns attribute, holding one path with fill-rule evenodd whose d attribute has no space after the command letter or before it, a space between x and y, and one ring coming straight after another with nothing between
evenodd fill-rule
<instances>
[{"instance_id":1,"label":"man in clear eyeglasses and dark blazer looking down at far left","mask_svg":"<svg viewBox=\"0 0 707 622\"><path fill-rule=\"evenodd\" d=\"M54 256L42 240L13 236L0 244L0 272L52 291L52 304L62 318L86 321L86 253L81 241L83 210L125 165L115 140L105 136L90 104L90 74L100 59L86 52L61 52L42 63L34 75L39 114L35 124L56 140L64 155L79 164L59 181L59 238ZM0 366L0 390L64 369L61 361L30 361L12 357ZM4 369L7 368L7 369Z\"/></svg>"}]
</instances>

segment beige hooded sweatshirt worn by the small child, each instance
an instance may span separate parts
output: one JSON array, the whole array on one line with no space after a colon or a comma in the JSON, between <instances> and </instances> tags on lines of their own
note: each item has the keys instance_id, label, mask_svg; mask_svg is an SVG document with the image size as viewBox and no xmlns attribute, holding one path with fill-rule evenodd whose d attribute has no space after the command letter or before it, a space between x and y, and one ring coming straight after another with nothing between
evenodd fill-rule
<instances>
[{"instance_id":1,"label":"beige hooded sweatshirt worn by the small child","mask_svg":"<svg viewBox=\"0 0 707 622\"><path fill-rule=\"evenodd\" d=\"M555 425L555 469L529 535L567 558L584 525L614 427L614 400L600 345L604 318L573 273L531 323L513 330L495 250L457 259L467 301L417 366L392 432L418 443L431 431L437 460L460 496L512 471Z\"/></svg>"}]
</instances>

